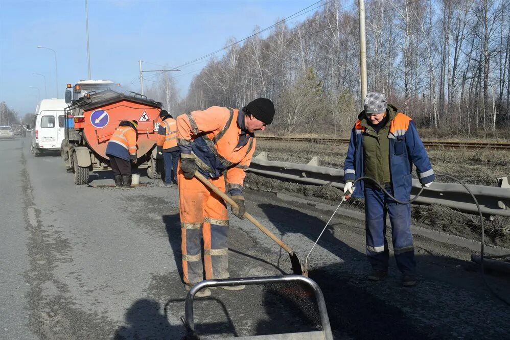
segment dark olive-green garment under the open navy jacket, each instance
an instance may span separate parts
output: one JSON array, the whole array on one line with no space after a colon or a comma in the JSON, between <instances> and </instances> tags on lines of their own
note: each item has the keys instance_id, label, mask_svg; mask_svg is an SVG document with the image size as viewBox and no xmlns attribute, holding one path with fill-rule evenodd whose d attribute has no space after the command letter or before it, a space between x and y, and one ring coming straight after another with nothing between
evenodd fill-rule
<instances>
[{"instance_id":1,"label":"dark olive-green garment under the open navy jacket","mask_svg":"<svg viewBox=\"0 0 510 340\"><path fill-rule=\"evenodd\" d=\"M362 111L358 118L361 126L365 127L363 133L363 159L365 176L372 177L382 185L391 183L391 172L389 168L389 126L391 120L397 115L397 108L388 105L386 109L386 124L379 132L368 122L365 111Z\"/></svg>"}]
</instances>

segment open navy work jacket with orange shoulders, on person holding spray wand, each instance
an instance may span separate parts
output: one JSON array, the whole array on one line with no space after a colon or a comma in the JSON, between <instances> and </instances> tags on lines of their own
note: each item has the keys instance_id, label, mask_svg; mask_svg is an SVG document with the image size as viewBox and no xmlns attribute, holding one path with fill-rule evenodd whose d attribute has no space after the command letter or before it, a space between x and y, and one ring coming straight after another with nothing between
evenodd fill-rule
<instances>
[{"instance_id":1,"label":"open navy work jacket with orange shoulders, on person holding spray wand","mask_svg":"<svg viewBox=\"0 0 510 340\"><path fill-rule=\"evenodd\" d=\"M398 112L393 105L388 105L386 112L390 110ZM360 117L365 114L360 113ZM363 177L363 139L366 128L361 125L358 119L351 131L349 149L343 166L345 182L354 182ZM434 171L430 163L427 151L420 139L418 130L412 119L402 112L398 112L390 122L389 132L389 169L391 174L391 187L395 198L400 201L408 201L411 195L412 165L416 166L420 183L427 184L434 180ZM354 197L364 197L364 183L359 181L355 185Z\"/></svg>"}]
</instances>

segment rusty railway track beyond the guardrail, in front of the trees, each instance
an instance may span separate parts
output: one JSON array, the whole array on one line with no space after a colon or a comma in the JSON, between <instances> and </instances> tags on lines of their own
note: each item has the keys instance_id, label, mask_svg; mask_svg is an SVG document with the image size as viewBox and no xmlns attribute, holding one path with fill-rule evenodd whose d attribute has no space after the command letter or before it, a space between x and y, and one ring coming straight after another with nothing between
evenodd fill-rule
<instances>
[{"instance_id":1,"label":"rusty railway track beyond the guardrail, in front of the trees","mask_svg":"<svg viewBox=\"0 0 510 340\"><path fill-rule=\"evenodd\" d=\"M279 137L279 136L257 136L259 140L267 141L284 141L284 142L306 142L314 144L347 144L349 139L345 138L331 138L331 137ZM510 150L510 143L508 142L483 142L483 141L440 141L440 140L424 140L423 144L427 148L447 148L447 149L494 149L494 150Z\"/></svg>"}]
</instances>

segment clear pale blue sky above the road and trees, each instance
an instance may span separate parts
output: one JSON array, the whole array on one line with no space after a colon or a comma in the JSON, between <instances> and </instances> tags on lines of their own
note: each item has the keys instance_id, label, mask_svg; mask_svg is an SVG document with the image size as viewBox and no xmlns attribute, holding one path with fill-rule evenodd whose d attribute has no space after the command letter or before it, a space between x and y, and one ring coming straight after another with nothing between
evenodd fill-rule
<instances>
[{"instance_id":1,"label":"clear pale blue sky above the road and trees","mask_svg":"<svg viewBox=\"0 0 510 340\"><path fill-rule=\"evenodd\" d=\"M140 91L138 60L175 67L240 40L258 25L298 12L316 1L93 1L88 2L92 79L108 79ZM309 12L290 25L303 21ZM66 83L88 78L85 1L0 0L0 101L20 116L32 113L40 98L63 98ZM221 56L217 54L217 56ZM206 60L174 72L181 94ZM144 70L160 66L143 64ZM150 73L144 74L149 77ZM144 82L146 88L151 85Z\"/></svg>"}]
</instances>

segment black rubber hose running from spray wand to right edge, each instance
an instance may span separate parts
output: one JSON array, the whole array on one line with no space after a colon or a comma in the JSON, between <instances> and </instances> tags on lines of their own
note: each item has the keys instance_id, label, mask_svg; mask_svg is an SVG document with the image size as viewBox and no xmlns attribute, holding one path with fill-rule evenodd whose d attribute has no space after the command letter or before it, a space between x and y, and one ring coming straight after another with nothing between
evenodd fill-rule
<instances>
[{"instance_id":1,"label":"black rubber hose running from spray wand to right edge","mask_svg":"<svg viewBox=\"0 0 510 340\"><path fill-rule=\"evenodd\" d=\"M473 195L473 192L471 192L471 190L468 188L468 186L465 183L463 183L461 180L459 180L458 178L455 178L455 177L450 176L450 175L445 175L445 174L436 174L435 177L448 177L448 178L456 181L457 183L461 184L464 188L466 188L466 190L468 190L468 192L469 192L469 195L471 195L471 197L473 198L473 201L476 204L476 208L478 209L478 216L480 217L480 227L482 229L482 241L481 241L481 249L480 249L480 257L481 257L480 268L481 268L483 282L485 283L485 285L489 288L490 292L496 298L498 298L499 300L503 301L507 306L510 306L510 301L508 301L505 298L503 298L502 296L498 295L498 293L496 293L496 291L491 287L489 282L487 282L487 279L485 277L485 270L484 270L484 267L483 267L483 258L485 257L485 255L484 255L484 252L485 252L485 230L484 230L484 226L483 226L482 209L480 208L480 205L478 204L478 200L476 199L475 195ZM397 203L400 203L400 204L410 204L410 203L414 202L414 200L416 200L417 198L420 197L420 195L422 195L422 192L425 189L425 186L422 185L422 189L420 190L420 192L418 192L418 194L416 194L416 196L414 196L412 199L410 199L409 201L399 201L395 197L393 197L388 191L386 191L386 189L384 188L383 185L379 184L375 179L373 179L371 177L367 177L367 176L360 177L356 181L354 181L353 186L354 186L354 184L356 184L356 182L359 182L360 180L369 180L369 181L373 182L381 190L383 190L384 193L389 196L389 198L391 198L393 201L395 201ZM493 258L507 257L507 255L503 255L503 256L491 256L491 257L493 257Z\"/></svg>"}]
</instances>

